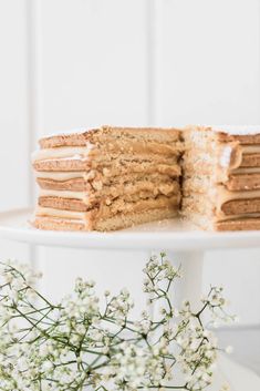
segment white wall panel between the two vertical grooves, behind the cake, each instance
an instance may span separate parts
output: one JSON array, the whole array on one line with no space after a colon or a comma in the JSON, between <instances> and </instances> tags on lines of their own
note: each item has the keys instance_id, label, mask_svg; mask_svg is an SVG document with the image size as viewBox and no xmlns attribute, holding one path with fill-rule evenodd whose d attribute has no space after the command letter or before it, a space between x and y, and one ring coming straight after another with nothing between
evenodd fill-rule
<instances>
[{"instance_id":1,"label":"white wall panel between the two vertical grooves, behind the cake","mask_svg":"<svg viewBox=\"0 0 260 391\"><path fill-rule=\"evenodd\" d=\"M147 4L139 0L41 3L39 136L82 125L147 124ZM132 286L138 311L144 303L145 261L144 253L42 249L39 267L44 269L43 289L50 295L61 296L79 274L91 275L100 290Z\"/></svg>"}]
</instances>

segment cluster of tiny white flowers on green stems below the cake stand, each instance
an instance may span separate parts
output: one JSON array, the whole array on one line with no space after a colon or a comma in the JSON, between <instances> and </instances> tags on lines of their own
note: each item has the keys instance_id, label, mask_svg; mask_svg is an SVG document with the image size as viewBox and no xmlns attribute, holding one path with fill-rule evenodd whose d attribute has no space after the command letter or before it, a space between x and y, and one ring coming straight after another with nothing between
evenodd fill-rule
<instances>
[{"instance_id":1,"label":"cluster of tiny white flowers on green stems below the cake stand","mask_svg":"<svg viewBox=\"0 0 260 391\"><path fill-rule=\"evenodd\" d=\"M104 306L94 281L79 278L73 294L53 305L33 288L39 276L29 267L2 265L0 391L205 389L218 348L201 316L227 317L222 290L211 288L198 312L188 301L178 310L169 294L180 275L166 255L152 257L144 272L144 291L160 307L159 319L144 310L133 321L126 289L105 291Z\"/></svg>"}]
</instances>

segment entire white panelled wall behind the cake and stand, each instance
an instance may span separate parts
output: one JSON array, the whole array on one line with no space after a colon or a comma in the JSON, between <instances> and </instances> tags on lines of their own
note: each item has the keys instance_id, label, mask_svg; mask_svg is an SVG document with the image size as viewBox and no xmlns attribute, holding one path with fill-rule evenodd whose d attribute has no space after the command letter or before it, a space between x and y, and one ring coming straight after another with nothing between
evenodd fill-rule
<instances>
[{"instance_id":1,"label":"entire white panelled wall behind the cake and stand","mask_svg":"<svg viewBox=\"0 0 260 391\"><path fill-rule=\"evenodd\" d=\"M0 209L32 205L30 153L61 130L101 124L260 124L258 0L0 0ZM0 256L44 271L58 298L77 275L127 285L139 310L146 253L33 249ZM259 244L260 247L260 244ZM209 253L245 326L260 322L260 250Z\"/></svg>"}]
</instances>

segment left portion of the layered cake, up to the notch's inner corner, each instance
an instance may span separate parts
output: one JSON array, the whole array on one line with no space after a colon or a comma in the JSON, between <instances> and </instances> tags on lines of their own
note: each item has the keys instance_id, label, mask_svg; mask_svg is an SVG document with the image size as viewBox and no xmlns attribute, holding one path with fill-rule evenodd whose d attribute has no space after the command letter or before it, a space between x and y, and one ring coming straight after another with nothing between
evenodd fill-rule
<instances>
[{"instance_id":1,"label":"left portion of the layered cake, up to the notch's inner corner","mask_svg":"<svg viewBox=\"0 0 260 391\"><path fill-rule=\"evenodd\" d=\"M181 148L175 128L103 126L40 140L33 225L114 230L176 216Z\"/></svg>"}]
</instances>

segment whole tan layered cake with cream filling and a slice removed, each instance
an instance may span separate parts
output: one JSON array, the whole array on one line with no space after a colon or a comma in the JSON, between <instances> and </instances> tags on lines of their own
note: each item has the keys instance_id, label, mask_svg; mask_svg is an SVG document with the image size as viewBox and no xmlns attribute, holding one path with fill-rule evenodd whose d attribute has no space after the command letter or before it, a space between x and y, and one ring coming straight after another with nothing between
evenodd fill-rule
<instances>
[{"instance_id":1,"label":"whole tan layered cake with cream filling and a slice removed","mask_svg":"<svg viewBox=\"0 0 260 391\"><path fill-rule=\"evenodd\" d=\"M260 127L112 127L40 140L34 227L114 230L180 216L260 229Z\"/></svg>"}]
</instances>

